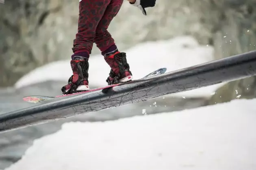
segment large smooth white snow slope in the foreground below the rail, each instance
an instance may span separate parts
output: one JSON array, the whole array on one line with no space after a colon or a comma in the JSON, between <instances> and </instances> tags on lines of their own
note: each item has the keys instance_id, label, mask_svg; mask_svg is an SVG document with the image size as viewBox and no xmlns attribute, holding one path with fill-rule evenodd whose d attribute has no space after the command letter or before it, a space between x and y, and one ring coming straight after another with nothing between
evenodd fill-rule
<instances>
[{"instance_id":1,"label":"large smooth white snow slope in the foreground below the rail","mask_svg":"<svg viewBox=\"0 0 256 170\"><path fill-rule=\"evenodd\" d=\"M65 123L5 170L255 170L255 103Z\"/></svg>"}]
</instances>

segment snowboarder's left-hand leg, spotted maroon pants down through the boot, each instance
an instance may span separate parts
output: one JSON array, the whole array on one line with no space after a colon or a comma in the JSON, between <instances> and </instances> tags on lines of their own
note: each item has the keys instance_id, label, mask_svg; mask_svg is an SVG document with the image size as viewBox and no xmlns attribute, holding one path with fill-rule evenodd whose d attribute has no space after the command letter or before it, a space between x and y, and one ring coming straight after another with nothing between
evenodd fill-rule
<instances>
[{"instance_id":1,"label":"snowboarder's left-hand leg, spotted maroon pants down through the boot","mask_svg":"<svg viewBox=\"0 0 256 170\"><path fill-rule=\"evenodd\" d=\"M78 32L74 39L72 60L73 75L61 88L63 94L89 90L89 55L93 47L96 28L111 0L81 0L79 2Z\"/></svg>"}]
</instances>

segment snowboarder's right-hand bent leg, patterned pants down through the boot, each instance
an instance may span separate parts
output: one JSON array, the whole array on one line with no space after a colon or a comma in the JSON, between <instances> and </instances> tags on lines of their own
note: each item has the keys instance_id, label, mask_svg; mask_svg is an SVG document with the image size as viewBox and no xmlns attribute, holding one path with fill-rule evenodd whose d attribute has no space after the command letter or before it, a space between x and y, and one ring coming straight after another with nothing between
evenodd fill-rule
<instances>
[{"instance_id":1,"label":"snowboarder's right-hand bent leg, patterned pants down through the boot","mask_svg":"<svg viewBox=\"0 0 256 170\"><path fill-rule=\"evenodd\" d=\"M126 53L120 53L118 51L114 39L107 30L112 19L119 12L122 3L123 0L111 0L96 28L94 39L104 59L111 67L110 76L106 80L109 85L132 80L132 73L130 72L130 67L126 60Z\"/></svg>"}]
</instances>

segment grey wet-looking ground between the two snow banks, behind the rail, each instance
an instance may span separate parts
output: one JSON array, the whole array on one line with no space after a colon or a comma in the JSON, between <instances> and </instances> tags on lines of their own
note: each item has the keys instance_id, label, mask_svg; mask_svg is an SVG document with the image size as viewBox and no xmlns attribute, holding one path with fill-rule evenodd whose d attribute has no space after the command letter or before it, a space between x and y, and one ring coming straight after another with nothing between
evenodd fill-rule
<instances>
[{"instance_id":1,"label":"grey wet-looking ground between the two snow banks, behind the rail","mask_svg":"<svg viewBox=\"0 0 256 170\"><path fill-rule=\"evenodd\" d=\"M65 82L44 82L19 90L13 88L0 89L0 114L27 108L35 103L22 101L28 95L60 95L60 87ZM91 87L93 88L93 87ZM158 97L135 104L123 105L118 108L91 112L84 115L65 118L51 123L35 125L14 131L0 133L0 169L4 169L19 160L26 149L33 144L33 140L54 133L61 129L61 125L69 121L108 121L130 116L143 116L161 112L171 112L204 105L206 99L183 99L174 97Z\"/></svg>"}]
</instances>

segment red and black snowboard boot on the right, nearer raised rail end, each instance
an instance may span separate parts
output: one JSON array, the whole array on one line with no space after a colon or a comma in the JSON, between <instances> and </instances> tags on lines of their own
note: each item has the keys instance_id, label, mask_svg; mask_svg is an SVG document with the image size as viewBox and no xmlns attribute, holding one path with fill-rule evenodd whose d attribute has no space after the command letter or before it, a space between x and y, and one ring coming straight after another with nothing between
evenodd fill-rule
<instances>
[{"instance_id":1,"label":"red and black snowboard boot on the right, nearer raised rail end","mask_svg":"<svg viewBox=\"0 0 256 170\"><path fill-rule=\"evenodd\" d=\"M105 61L111 67L109 77L106 82L108 85L128 82L132 80L130 66L126 60L126 53L117 50L104 55Z\"/></svg>"}]
</instances>

